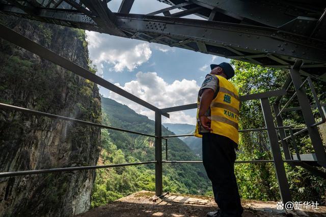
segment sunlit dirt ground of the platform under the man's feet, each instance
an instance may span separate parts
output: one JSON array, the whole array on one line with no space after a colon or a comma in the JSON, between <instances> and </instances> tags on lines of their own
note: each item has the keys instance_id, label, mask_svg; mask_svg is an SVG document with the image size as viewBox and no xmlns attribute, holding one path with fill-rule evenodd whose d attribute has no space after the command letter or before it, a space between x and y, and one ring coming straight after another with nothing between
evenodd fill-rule
<instances>
[{"instance_id":1,"label":"sunlit dirt ground of the platform under the man's feet","mask_svg":"<svg viewBox=\"0 0 326 217\"><path fill-rule=\"evenodd\" d=\"M206 216L218 209L213 198L197 195L168 194L157 199L154 192L141 191L77 216ZM295 211L278 210L276 202L241 200L243 217L252 216L326 216L326 207Z\"/></svg>"}]
</instances>

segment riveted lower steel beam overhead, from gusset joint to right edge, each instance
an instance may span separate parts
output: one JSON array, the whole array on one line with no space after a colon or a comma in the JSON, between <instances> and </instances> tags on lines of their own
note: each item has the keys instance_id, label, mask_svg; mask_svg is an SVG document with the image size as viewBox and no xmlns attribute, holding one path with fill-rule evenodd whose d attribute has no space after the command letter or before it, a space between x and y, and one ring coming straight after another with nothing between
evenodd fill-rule
<instances>
[{"instance_id":1,"label":"riveted lower steel beam overhead, from gusset joint to right edge","mask_svg":"<svg viewBox=\"0 0 326 217\"><path fill-rule=\"evenodd\" d=\"M230 46L236 50L241 48L247 52L326 61L326 46L322 42L307 41L307 38L273 28L132 14L118 15L117 26L130 32L168 35L172 38L186 37L204 43Z\"/></svg>"}]
</instances>

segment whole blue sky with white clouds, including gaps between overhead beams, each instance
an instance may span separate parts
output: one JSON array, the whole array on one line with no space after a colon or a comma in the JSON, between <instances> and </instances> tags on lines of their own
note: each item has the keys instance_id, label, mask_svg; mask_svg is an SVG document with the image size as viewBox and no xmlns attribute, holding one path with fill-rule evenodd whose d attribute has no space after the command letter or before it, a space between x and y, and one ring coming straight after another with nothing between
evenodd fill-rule
<instances>
[{"instance_id":1,"label":"whole blue sky with white clouds, including gaps between overhead beams","mask_svg":"<svg viewBox=\"0 0 326 217\"><path fill-rule=\"evenodd\" d=\"M121 0L113 0L108 7L116 12L120 3ZM166 7L169 6L154 0L135 0L130 13L146 14ZM198 17L192 15L188 18ZM97 74L158 108L195 103L198 89L210 72L209 65L229 61L156 43L95 32L87 32L87 35L90 58L98 69ZM154 118L154 112L103 87L100 87L100 93ZM170 119L164 117L162 122L196 123L195 109L173 112L170 116Z\"/></svg>"}]
</instances>

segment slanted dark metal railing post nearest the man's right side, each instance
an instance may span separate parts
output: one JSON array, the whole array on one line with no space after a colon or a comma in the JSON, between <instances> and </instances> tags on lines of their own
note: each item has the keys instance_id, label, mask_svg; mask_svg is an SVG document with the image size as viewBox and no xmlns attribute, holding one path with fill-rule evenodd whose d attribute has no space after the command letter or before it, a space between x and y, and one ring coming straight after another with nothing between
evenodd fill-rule
<instances>
[{"instance_id":1,"label":"slanted dark metal railing post nearest the man's right side","mask_svg":"<svg viewBox=\"0 0 326 217\"><path fill-rule=\"evenodd\" d=\"M271 114L268 98L260 99L261 108L267 128L268 140L270 144L271 154L273 155L274 167L276 170L276 177L279 183L280 195L283 203L291 201L289 183L284 168L284 162L282 159L281 149L276 133L276 128L273 121L273 115Z\"/></svg>"}]
</instances>

